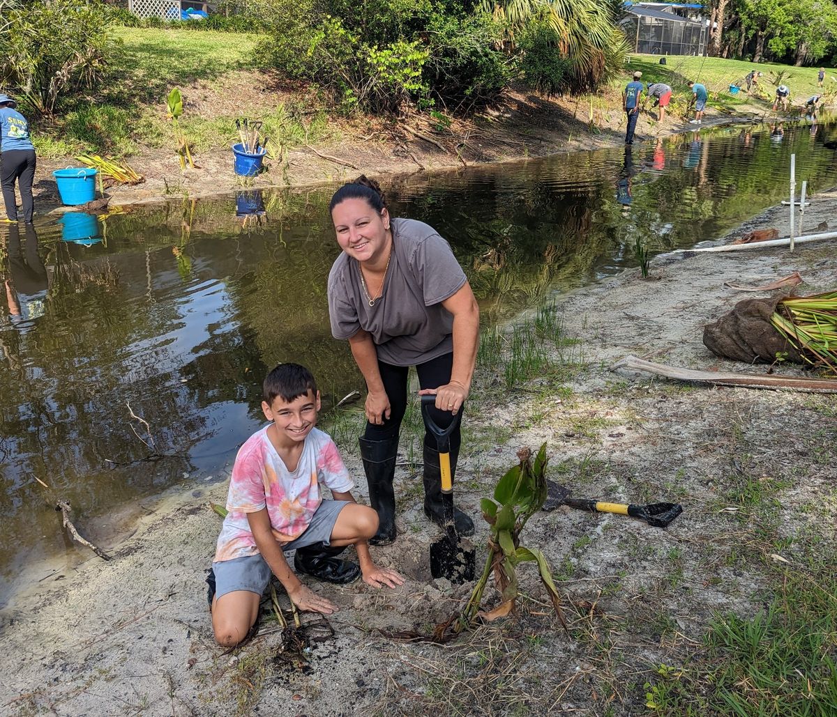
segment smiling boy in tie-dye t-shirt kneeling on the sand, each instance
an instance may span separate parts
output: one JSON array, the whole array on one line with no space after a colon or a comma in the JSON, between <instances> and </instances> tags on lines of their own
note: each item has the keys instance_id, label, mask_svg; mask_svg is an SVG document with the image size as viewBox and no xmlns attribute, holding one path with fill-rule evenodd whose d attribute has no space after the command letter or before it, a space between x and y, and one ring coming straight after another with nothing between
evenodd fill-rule
<instances>
[{"instance_id":1,"label":"smiling boy in tie-dye t-shirt kneeling on the sand","mask_svg":"<svg viewBox=\"0 0 837 717\"><path fill-rule=\"evenodd\" d=\"M213 573L208 578L215 640L240 643L253 627L272 572L300 610L331 614L336 606L303 585L284 551L296 550L296 572L346 583L362 574L373 587L404 582L377 567L367 540L377 513L355 502L354 484L331 437L314 427L320 392L308 369L280 364L264 379L262 410L270 425L241 446L235 458ZM333 500L320 495L319 480ZM336 557L354 545L360 569Z\"/></svg>"}]
</instances>

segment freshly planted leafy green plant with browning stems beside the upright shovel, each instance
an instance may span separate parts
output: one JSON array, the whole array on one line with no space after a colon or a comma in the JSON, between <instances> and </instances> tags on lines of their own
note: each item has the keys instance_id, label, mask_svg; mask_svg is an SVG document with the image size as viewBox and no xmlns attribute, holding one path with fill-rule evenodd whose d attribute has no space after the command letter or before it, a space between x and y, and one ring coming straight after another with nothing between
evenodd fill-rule
<instances>
[{"instance_id":1,"label":"freshly planted leafy green plant with browning stems beside the upright shovel","mask_svg":"<svg viewBox=\"0 0 837 717\"><path fill-rule=\"evenodd\" d=\"M531 450L528 448L518 451L517 457L520 463L508 470L497 483L494 499L484 498L480 501L482 515L491 528L488 557L465 609L458 618L452 618L449 623L439 626L443 631L452 626L454 633L458 633L469 628L477 618L493 620L505 617L515 610L518 597L516 569L521 562L537 563L541 582L547 588L552 607L564 629L567 629L561 608L561 596L552 579L552 570L547 558L537 548L521 545L520 537L526 522L541 510L543 501L547 499L547 445L541 446L534 464L531 462ZM501 602L488 612L482 612L480 605L492 572L495 585L501 593Z\"/></svg>"}]
</instances>

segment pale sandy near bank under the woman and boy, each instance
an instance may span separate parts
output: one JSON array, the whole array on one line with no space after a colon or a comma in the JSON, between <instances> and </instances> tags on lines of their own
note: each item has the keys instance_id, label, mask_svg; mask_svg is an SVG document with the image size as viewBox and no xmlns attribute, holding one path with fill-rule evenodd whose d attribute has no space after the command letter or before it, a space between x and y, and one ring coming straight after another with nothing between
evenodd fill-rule
<instances>
[{"instance_id":1,"label":"pale sandy near bank under the woman and boy","mask_svg":"<svg viewBox=\"0 0 837 717\"><path fill-rule=\"evenodd\" d=\"M787 208L747 222L787 231ZM837 191L814 197L806 226L837 224ZM307 650L283 648L276 624L234 653L213 644L204 577L220 521L207 507L223 484L184 486L103 562L38 582L3 610L3 714L358 715L639 714L659 664L682 664L713 611L752 616L768 572L794 569L799 536L833 551L837 514L837 396L720 389L647 374L612 373L627 354L687 368L763 373L701 343L704 324L758 284L794 270L799 293L834 289L835 243L657 257L651 278L632 269L558 297L583 365L506 394L480 375L460 458L460 502L480 498L546 441L551 477L573 495L679 501L666 530L623 516L559 508L534 516L523 542L541 547L564 596L560 628L531 567L521 567L519 611L439 647L386 638L383 629L429 630L461 606L467 586L429 576L439 531L421 513L420 478L399 467L398 541L373 549L408 580L377 591L312 584L340 607ZM808 375L797 366L777 374ZM357 449L341 446L355 475ZM365 481L357 494L365 499ZM758 502L752 498L753 486ZM768 520L769 519L769 520ZM767 521L767 522L766 522ZM477 544L487 532L477 520ZM85 516L78 517L81 531ZM768 526L766 529L765 526ZM768 530L766 533L765 531ZM485 552L478 555L481 563ZM486 604L496 602L489 586ZM286 598L280 597L280 600ZM286 603L285 603L286 604ZM310 618L307 618L310 619Z\"/></svg>"}]
</instances>

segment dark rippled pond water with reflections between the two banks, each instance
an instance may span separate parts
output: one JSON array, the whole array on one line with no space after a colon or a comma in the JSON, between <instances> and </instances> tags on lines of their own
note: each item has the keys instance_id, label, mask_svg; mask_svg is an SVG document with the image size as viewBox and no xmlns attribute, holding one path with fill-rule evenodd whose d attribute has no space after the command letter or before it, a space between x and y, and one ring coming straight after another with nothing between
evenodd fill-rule
<instances>
[{"instance_id":1,"label":"dark rippled pond water with reflections between the two banks","mask_svg":"<svg viewBox=\"0 0 837 717\"><path fill-rule=\"evenodd\" d=\"M635 266L637 236L652 252L722 236L787 196L792 152L798 186L833 186L834 132L704 130L383 185L393 215L449 240L489 327ZM25 568L78 559L56 498L106 546L171 486L225 478L276 363L307 364L324 408L362 389L327 317L334 188L0 225L0 603Z\"/></svg>"}]
</instances>

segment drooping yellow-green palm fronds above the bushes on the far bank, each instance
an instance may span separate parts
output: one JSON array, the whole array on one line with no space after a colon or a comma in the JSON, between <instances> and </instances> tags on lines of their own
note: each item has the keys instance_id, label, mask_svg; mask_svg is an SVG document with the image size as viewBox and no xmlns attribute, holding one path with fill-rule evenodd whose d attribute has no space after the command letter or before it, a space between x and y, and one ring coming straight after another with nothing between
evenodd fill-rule
<instances>
[{"instance_id":1,"label":"drooping yellow-green palm fronds above the bushes on the far bank","mask_svg":"<svg viewBox=\"0 0 837 717\"><path fill-rule=\"evenodd\" d=\"M573 94L594 89L621 69L628 45L614 23L610 4L598 0L481 0L481 9L516 30L546 22L557 48L573 62L567 89Z\"/></svg>"}]
</instances>

